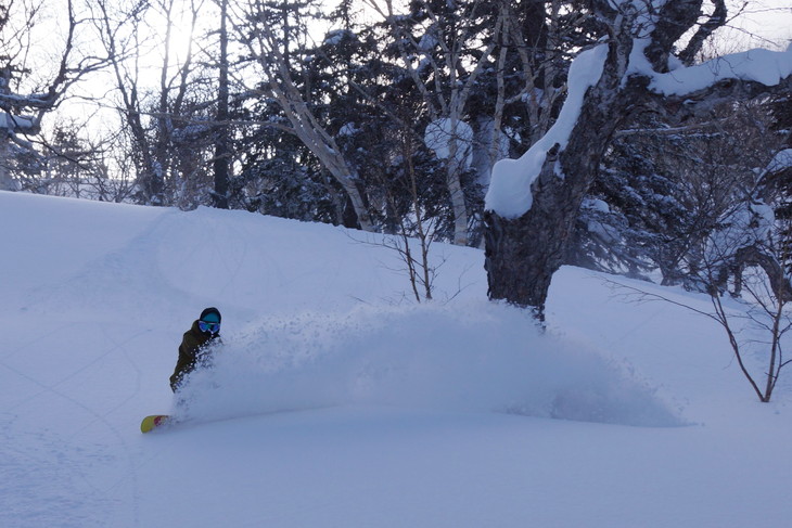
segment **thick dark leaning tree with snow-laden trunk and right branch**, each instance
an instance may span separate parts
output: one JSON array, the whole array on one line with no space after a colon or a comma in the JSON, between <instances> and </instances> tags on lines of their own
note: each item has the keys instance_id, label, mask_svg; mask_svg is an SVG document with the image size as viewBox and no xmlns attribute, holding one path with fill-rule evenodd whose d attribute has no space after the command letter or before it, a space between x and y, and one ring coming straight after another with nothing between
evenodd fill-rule
<instances>
[{"instance_id":1,"label":"thick dark leaning tree with snow-laden trunk and right branch","mask_svg":"<svg viewBox=\"0 0 792 528\"><path fill-rule=\"evenodd\" d=\"M792 47L685 66L673 51L695 27L703 3L593 2L608 37L573 62L555 125L521 158L495 167L486 197L490 298L532 307L544 318L550 280L563 262L585 193L627 118L659 103L667 112L685 113L725 98L790 90ZM715 3L719 11L720 2ZM719 21L725 17L711 17L706 30Z\"/></svg>"}]
</instances>

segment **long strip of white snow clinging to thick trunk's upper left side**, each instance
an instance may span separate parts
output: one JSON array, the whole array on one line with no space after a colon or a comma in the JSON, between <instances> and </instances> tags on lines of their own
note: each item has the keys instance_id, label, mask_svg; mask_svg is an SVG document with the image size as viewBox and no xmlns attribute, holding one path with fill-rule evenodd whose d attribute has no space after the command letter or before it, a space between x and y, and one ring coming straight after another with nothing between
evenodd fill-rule
<instances>
[{"instance_id":1,"label":"long strip of white snow clinging to thick trunk's upper left side","mask_svg":"<svg viewBox=\"0 0 792 528\"><path fill-rule=\"evenodd\" d=\"M531 185L539 177L547 153L555 144L563 149L569 143L586 90L602 76L606 56L608 44L599 44L575 57L570 66L566 101L550 130L520 158L501 159L493 167L491 182L484 201L487 210L503 218L518 218L531 209L534 203ZM559 177L563 178L563 175Z\"/></svg>"}]
</instances>

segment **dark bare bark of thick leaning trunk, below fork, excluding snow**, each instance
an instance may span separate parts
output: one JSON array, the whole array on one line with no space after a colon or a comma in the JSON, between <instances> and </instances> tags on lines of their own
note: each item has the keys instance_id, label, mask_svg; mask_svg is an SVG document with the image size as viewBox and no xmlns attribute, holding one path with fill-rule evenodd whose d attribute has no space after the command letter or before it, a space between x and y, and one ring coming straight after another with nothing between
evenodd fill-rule
<instances>
[{"instance_id":1,"label":"dark bare bark of thick leaning trunk, below fork, excluding snow","mask_svg":"<svg viewBox=\"0 0 792 528\"><path fill-rule=\"evenodd\" d=\"M485 269L489 298L533 308L544 320L550 280L561 267L577 211L600 165L604 150L627 105L619 94L623 70L612 48L599 82L584 98L569 142L547 152L531 190L533 204L518 218L485 214ZM622 96L617 96L617 94Z\"/></svg>"}]
</instances>

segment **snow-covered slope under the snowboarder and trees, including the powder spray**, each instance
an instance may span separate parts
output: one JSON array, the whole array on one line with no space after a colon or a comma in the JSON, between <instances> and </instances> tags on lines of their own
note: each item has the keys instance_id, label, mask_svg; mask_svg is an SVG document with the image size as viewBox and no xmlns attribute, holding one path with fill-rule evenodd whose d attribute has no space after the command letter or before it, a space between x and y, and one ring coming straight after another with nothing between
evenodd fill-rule
<instances>
[{"instance_id":1,"label":"snow-covered slope under the snowboarder and trees, including the powder spray","mask_svg":"<svg viewBox=\"0 0 792 528\"><path fill-rule=\"evenodd\" d=\"M790 381L759 403L715 323L602 275L562 269L538 336L474 249L436 246L417 306L395 254L328 226L12 193L0 224L2 527L792 518ZM207 306L215 368L141 435Z\"/></svg>"}]
</instances>

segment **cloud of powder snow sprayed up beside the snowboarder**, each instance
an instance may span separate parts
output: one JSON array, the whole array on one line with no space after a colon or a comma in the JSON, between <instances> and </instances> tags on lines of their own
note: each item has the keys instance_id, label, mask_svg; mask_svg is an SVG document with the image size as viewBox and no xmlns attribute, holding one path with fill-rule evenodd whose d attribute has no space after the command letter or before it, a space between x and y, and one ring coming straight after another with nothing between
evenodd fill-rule
<instances>
[{"instance_id":1,"label":"cloud of powder snow sprayed up beside the snowboarder","mask_svg":"<svg viewBox=\"0 0 792 528\"><path fill-rule=\"evenodd\" d=\"M540 334L521 310L488 302L267 319L227 337L215 356L214 368L186 386L181 417L392 405L680 424L623 365Z\"/></svg>"}]
</instances>

